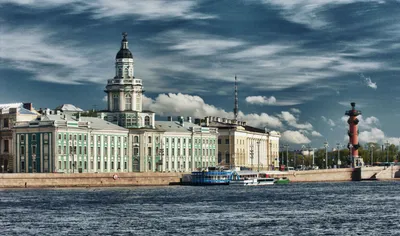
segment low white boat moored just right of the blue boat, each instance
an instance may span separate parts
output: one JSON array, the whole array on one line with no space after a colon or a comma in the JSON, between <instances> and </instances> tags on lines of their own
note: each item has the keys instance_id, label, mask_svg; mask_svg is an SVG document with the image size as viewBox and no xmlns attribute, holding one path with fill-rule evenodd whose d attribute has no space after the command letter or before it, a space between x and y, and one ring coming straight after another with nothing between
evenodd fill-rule
<instances>
[{"instance_id":1,"label":"low white boat moored just right of the blue boat","mask_svg":"<svg viewBox=\"0 0 400 236\"><path fill-rule=\"evenodd\" d=\"M274 178L269 178L268 175L255 171L233 171L229 185L240 186L258 186L272 185Z\"/></svg>"}]
</instances>

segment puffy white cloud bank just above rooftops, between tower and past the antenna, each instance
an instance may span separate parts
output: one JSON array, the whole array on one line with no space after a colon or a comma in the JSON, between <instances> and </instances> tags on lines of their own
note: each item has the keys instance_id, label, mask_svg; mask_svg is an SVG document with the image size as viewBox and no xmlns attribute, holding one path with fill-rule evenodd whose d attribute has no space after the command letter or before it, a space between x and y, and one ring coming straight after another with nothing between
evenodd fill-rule
<instances>
[{"instance_id":1,"label":"puffy white cloud bank just above rooftops, between tower and past the antenna","mask_svg":"<svg viewBox=\"0 0 400 236\"><path fill-rule=\"evenodd\" d=\"M143 101L144 109L149 109L161 116L193 116L203 118L205 116L217 116L233 118L233 112L227 112L213 105L206 104L199 96L188 94L159 94L154 100L148 97ZM248 125L254 127L281 128L282 122L279 118L261 114L243 114L239 112L239 119L247 121Z\"/></svg>"}]
</instances>

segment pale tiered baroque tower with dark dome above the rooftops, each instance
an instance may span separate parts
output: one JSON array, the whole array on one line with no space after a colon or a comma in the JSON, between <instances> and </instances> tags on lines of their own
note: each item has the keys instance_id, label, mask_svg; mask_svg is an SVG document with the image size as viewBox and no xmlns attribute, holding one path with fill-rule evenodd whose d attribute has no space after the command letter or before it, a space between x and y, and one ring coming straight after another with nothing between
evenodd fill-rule
<instances>
[{"instance_id":1,"label":"pale tiered baroque tower with dark dome above the rooftops","mask_svg":"<svg viewBox=\"0 0 400 236\"><path fill-rule=\"evenodd\" d=\"M135 77L127 33L115 57L115 76L107 81L107 111L102 118L125 128L154 128L154 113L142 110L142 80Z\"/></svg>"}]
</instances>

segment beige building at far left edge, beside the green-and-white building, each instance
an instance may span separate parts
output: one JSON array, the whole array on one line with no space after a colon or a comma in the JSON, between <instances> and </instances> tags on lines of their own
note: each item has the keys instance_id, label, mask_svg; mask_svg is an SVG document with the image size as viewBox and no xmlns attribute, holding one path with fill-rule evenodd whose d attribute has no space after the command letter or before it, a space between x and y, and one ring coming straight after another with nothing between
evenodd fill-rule
<instances>
[{"instance_id":1,"label":"beige building at far left edge, beside the green-and-white building","mask_svg":"<svg viewBox=\"0 0 400 236\"><path fill-rule=\"evenodd\" d=\"M14 123L29 121L37 116L32 103L0 104L0 172L14 172Z\"/></svg>"}]
</instances>

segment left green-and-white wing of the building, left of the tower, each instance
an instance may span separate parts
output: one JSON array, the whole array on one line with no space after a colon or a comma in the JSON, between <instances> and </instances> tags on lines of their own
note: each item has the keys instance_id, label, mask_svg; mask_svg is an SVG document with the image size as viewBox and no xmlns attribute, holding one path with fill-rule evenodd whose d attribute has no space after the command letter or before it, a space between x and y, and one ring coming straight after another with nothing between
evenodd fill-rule
<instances>
[{"instance_id":1,"label":"left green-and-white wing of the building, left of the tower","mask_svg":"<svg viewBox=\"0 0 400 236\"><path fill-rule=\"evenodd\" d=\"M128 130L93 117L62 113L18 122L14 170L19 173L129 172Z\"/></svg>"}]
</instances>

